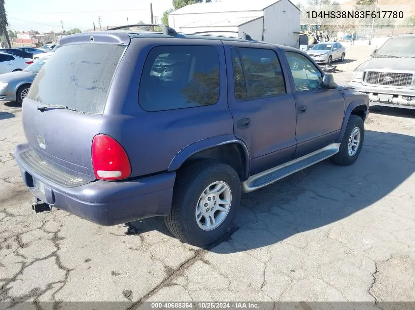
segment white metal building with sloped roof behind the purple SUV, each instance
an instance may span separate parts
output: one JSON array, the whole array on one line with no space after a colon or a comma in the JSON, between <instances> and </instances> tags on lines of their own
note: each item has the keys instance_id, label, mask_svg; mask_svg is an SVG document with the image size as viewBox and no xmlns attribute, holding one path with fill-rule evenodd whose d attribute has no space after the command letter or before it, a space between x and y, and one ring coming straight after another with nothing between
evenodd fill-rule
<instances>
[{"instance_id":1,"label":"white metal building with sloped roof behind the purple SUV","mask_svg":"<svg viewBox=\"0 0 415 310\"><path fill-rule=\"evenodd\" d=\"M298 48L300 14L290 0L221 0L186 5L168 15L168 24L183 33L246 32L255 40Z\"/></svg>"}]
</instances>

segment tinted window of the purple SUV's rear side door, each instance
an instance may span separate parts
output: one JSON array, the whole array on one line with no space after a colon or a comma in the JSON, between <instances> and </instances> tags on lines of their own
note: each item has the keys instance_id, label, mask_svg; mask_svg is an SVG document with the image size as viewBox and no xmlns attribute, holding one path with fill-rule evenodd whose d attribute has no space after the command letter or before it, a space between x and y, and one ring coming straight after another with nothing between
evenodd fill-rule
<instances>
[{"instance_id":1,"label":"tinted window of the purple SUV's rear side door","mask_svg":"<svg viewBox=\"0 0 415 310\"><path fill-rule=\"evenodd\" d=\"M237 98L261 98L285 93L284 76L277 54L272 49L234 48L232 58ZM245 80L242 72L245 73Z\"/></svg>"}]
</instances>

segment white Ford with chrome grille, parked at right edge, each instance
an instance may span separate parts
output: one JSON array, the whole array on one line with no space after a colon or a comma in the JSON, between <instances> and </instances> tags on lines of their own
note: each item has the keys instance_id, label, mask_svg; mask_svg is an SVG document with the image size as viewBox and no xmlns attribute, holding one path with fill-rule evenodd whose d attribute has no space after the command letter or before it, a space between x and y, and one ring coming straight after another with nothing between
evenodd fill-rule
<instances>
[{"instance_id":1,"label":"white Ford with chrome grille, parked at right edge","mask_svg":"<svg viewBox=\"0 0 415 310\"><path fill-rule=\"evenodd\" d=\"M369 95L371 104L415 108L415 34L387 41L360 64L349 83Z\"/></svg>"}]
</instances>

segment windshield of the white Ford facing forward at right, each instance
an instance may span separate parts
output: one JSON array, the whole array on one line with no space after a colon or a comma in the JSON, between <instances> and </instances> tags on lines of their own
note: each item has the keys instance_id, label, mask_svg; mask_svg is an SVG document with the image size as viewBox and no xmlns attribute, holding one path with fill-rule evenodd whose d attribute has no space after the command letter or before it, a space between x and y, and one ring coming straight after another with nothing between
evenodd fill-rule
<instances>
[{"instance_id":1,"label":"windshield of the white Ford facing forward at right","mask_svg":"<svg viewBox=\"0 0 415 310\"><path fill-rule=\"evenodd\" d=\"M415 37L390 38L375 57L415 57Z\"/></svg>"}]
</instances>

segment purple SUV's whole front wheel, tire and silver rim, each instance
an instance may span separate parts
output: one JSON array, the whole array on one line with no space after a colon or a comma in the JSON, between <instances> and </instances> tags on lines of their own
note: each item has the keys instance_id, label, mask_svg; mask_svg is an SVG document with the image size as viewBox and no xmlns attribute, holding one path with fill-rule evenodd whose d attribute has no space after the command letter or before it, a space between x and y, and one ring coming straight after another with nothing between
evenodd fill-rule
<instances>
[{"instance_id":1,"label":"purple SUV's whole front wheel, tire and silver rim","mask_svg":"<svg viewBox=\"0 0 415 310\"><path fill-rule=\"evenodd\" d=\"M359 157L364 140L364 123L357 115L351 115L337 154L332 156L333 163L342 166L353 164Z\"/></svg>"}]
</instances>

